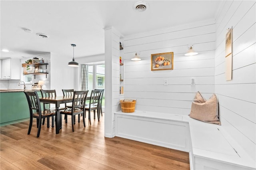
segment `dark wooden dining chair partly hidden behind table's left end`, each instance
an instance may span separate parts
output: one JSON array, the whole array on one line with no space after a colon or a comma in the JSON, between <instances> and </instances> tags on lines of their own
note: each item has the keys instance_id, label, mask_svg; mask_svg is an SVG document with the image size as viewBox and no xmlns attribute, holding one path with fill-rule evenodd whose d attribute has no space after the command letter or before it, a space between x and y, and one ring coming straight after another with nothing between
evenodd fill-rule
<instances>
[{"instance_id":1,"label":"dark wooden dining chair partly hidden behind table's left end","mask_svg":"<svg viewBox=\"0 0 256 170\"><path fill-rule=\"evenodd\" d=\"M42 97L56 97L56 90L40 90ZM54 110L55 108L50 108L49 103L43 103L44 110ZM45 118L43 119L44 125ZM49 127L49 117L47 118L47 127ZM52 127L54 127L54 116L52 117Z\"/></svg>"}]
</instances>

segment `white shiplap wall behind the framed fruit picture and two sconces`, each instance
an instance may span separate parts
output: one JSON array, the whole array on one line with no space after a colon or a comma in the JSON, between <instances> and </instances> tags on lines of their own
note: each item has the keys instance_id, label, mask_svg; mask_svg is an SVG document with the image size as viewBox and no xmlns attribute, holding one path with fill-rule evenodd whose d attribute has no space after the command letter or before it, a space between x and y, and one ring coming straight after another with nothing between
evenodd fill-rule
<instances>
[{"instance_id":1,"label":"white shiplap wall behind the framed fruit picture and two sconces","mask_svg":"<svg viewBox=\"0 0 256 170\"><path fill-rule=\"evenodd\" d=\"M188 115L197 91L214 93L215 37L215 21L124 37L124 98L137 99L136 110ZM191 44L199 54L184 56ZM131 61L136 51L141 61ZM151 71L151 54L165 52L174 52L174 69Z\"/></svg>"}]
</instances>

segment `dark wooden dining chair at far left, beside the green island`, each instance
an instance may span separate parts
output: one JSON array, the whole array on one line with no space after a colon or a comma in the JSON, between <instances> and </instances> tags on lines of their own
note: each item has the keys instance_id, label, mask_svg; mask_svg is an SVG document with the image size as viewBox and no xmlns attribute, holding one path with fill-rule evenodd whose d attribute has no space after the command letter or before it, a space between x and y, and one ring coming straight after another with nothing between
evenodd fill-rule
<instances>
[{"instance_id":1,"label":"dark wooden dining chair at far left, beside the green island","mask_svg":"<svg viewBox=\"0 0 256 170\"><path fill-rule=\"evenodd\" d=\"M28 101L28 107L30 111L30 122L28 127L28 134L30 134L33 118L36 118L36 126L38 128L36 137L38 138L40 136L40 130L42 125L42 119L54 117L55 111L53 110L41 110L40 100L38 97L38 94L36 91L24 91L27 101ZM48 119L49 120L49 119Z\"/></svg>"}]
</instances>

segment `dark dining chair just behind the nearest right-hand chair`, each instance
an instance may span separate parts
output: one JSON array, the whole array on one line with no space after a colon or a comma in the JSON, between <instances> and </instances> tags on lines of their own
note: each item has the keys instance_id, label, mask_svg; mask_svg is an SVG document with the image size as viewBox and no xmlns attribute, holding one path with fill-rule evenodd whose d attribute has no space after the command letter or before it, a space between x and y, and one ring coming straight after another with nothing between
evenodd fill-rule
<instances>
[{"instance_id":1,"label":"dark dining chair just behind the nearest right-hand chair","mask_svg":"<svg viewBox=\"0 0 256 170\"><path fill-rule=\"evenodd\" d=\"M91 123L91 111L94 112L94 119L95 119L95 113L97 110L97 116L98 116L98 121L100 121L100 116L99 116L99 103L100 103L100 95L102 93L102 90L92 90L91 95L90 95L90 102L89 105L85 105L85 111L88 111L88 120Z\"/></svg>"}]
</instances>

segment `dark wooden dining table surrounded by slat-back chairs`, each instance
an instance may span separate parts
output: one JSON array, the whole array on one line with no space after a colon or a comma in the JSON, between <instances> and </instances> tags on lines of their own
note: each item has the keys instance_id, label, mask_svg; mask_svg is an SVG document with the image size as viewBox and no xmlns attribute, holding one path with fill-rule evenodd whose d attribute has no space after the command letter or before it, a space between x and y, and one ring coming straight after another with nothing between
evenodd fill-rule
<instances>
[{"instance_id":1,"label":"dark wooden dining table surrounded by slat-back chairs","mask_svg":"<svg viewBox=\"0 0 256 170\"><path fill-rule=\"evenodd\" d=\"M55 104L55 128L56 134L60 133L60 104L70 103L73 101L73 96L54 96L54 97L40 97L40 102Z\"/></svg>"}]
</instances>

